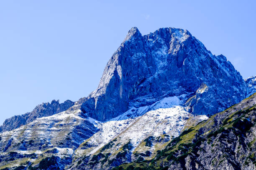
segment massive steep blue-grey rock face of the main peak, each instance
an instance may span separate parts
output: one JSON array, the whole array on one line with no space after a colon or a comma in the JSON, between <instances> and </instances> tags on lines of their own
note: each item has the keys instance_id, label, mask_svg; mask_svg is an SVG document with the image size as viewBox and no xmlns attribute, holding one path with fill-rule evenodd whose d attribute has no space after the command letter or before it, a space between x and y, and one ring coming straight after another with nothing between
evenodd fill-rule
<instances>
[{"instance_id":1,"label":"massive steep blue-grey rock face of the main peak","mask_svg":"<svg viewBox=\"0 0 256 170\"><path fill-rule=\"evenodd\" d=\"M223 55L212 55L187 30L161 28L142 36L131 28L103 72L100 84L78 103L97 120L129 107L185 94L187 110L212 115L245 98L245 82Z\"/></svg>"}]
</instances>

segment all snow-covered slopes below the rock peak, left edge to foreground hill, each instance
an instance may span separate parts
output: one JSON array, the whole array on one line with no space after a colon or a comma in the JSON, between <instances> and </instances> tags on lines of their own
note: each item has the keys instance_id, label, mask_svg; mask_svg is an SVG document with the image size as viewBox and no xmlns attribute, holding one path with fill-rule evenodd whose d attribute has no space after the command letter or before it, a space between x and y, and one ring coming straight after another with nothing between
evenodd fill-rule
<instances>
[{"instance_id":1,"label":"all snow-covered slopes below the rock peak, left edge to foreground hill","mask_svg":"<svg viewBox=\"0 0 256 170\"><path fill-rule=\"evenodd\" d=\"M179 97L165 97L152 105L133 107L106 122L87 117L81 111L81 104L49 117L37 118L18 129L0 134L0 167L12 168L26 163L37 167L40 161L53 155L62 168L74 164L70 168L77 169L81 168L77 167L77 162L81 161L80 166L85 166L94 155L101 153L111 154L109 158L104 157L112 161L110 165L109 161L104 162L105 168L109 169L136 160L138 154L146 149L151 154L144 158L149 159L178 136L192 117ZM203 115L195 118L195 122L207 119ZM148 137L152 138L152 146L145 146L144 141ZM127 150L125 158L116 158L127 143L131 149ZM84 157L87 159L82 160ZM95 163L93 167L101 169L102 166ZM86 169L90 168L91 164L88 164Z\"/></svg>"}]
</instances>

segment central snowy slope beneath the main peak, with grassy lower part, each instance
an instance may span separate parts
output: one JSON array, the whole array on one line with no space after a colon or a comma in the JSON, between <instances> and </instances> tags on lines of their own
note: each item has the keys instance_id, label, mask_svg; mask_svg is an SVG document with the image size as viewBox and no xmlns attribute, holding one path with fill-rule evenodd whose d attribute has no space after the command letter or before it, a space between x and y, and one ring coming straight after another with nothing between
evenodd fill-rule
<instances>
[{"instance_id":1,"label":"central snowy slope beneath the main peak, with grassy lower part","mask_svg":"<svg viewBox=\"0 0 256 170\"><path fill-rule=\"evenodd\" d=\"M110 169L135 161L141 155L143 159L154 157L157 150L181 133L189 117L193 117L181 103L177 96L165 97L153 105L131 108L107 122L90 119L100 131L75 151L71 169ZM200 115L194 122L205 119L207 116ZM150 151L149 155L146 150Z\"/></svg>"}]
</instances>

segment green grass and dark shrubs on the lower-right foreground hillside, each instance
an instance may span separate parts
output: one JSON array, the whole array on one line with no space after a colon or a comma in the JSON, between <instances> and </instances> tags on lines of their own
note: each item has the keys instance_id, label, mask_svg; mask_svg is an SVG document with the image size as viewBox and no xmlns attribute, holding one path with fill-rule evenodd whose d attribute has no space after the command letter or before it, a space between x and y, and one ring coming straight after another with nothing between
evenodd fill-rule
<instances>
[{"instance_id":1,"label":"green grass and dark shrubs on the lower-right foreground hillside","mask_svg":"<svg viewBox=\"0 0 256 170\"><path fill-rule=\"evenodd\" d=\"M179 137L174 138L164 150L159 150L154 159L123 164L113 168L113 170L164 170L172 165L176 165L182 169L185 168L186 158L197 161L202 153L216 152L218 149L221 150L225 148L222 145L222 140L235 143L235 141L229 141L231 140L229 136L237 139L240 143L238 143L238 151L236 151L238 155L239 150L243 148L242 143L246 143L248 140L245 140L246 136L256 124L256 106L255 102L252 102L255 101L255 99L256 93L246 98L241 103L233 105L223 112L212 115L208 120L187 128ZM246 160L244 161L244 165L233 165L234 167L256 165L255 141L254 136L253 139L248 142L247 148L245 148L245 150L251 151L252 154L248 154L247 157L244 156L245 158L243 158L243 155L240 156L241 160ZM215 146L219 148L214 148ZM222 158L212 158L213 167L223 166L225 160L228 160L229 157L231 157L230 155L234 154L233 150L227 150L226 148L225 150L223 149L222 152L225 153ZM214 154L209 155L209 157L213 157L213 155ZM241 162L243 163L243 161Z\"/></svg>"}]
</instances>

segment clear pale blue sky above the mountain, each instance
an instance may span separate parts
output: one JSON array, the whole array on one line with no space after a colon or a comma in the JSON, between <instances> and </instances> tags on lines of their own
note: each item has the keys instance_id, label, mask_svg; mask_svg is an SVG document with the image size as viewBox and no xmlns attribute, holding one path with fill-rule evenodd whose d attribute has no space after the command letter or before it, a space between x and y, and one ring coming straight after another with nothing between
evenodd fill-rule
<instances>
[{"instance_id":1,"label":"clear pale blue sky above the mountain","mask_svg":"<svg viewBox=\"0 0 256 170\"><path fill-rule=\"evenodd\" d=\"M189 30L243 78L256 75L254 0L1 0L0 124L96 89L131 27Z\"/></svg>"}]
</instances>

